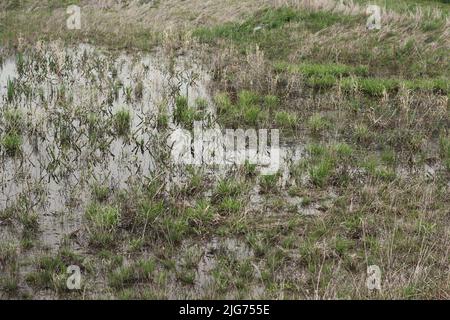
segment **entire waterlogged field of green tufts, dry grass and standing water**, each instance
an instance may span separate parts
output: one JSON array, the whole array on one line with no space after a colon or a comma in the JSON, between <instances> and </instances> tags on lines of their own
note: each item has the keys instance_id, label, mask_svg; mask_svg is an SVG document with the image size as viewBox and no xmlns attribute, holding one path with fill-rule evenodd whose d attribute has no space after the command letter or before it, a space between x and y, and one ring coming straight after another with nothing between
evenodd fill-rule
<instances>
[{"instance_id":1,"label":"entire waterlogged field of green tufts, dry grass and standing water","mask_svg":"<svg viewBox=\"0 0 450 320\"><path fill-rule=\"evenodd\" d=\"M448 299L448 4L344 2L2 2L0 298ZM174 161L194 121L279 170Z\"/></svg>"}]
</instances>

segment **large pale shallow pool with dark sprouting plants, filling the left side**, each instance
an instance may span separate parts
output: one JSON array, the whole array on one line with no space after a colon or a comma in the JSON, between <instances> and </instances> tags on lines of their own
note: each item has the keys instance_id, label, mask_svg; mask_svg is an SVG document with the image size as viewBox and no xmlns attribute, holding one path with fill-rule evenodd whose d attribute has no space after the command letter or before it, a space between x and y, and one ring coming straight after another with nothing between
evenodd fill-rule
<instances>
[{"instance_id":1,"label":"large pale shallow pool with dark sprouting plants, filling the left side","mask_svg":"<svg viewBox=\"0 0 450 320\"><path fill-rule=\"evenodd\" d=\"M174 97L187 96L191 106L204 99L207 116L214 118L209 76L190 60L112 53L84 44L64 48L58 43L38 44L28 55L7 58L0 70L0 110L3 114L18 108L24 115L23 142L19 155L1 152L0 211L25 206L35 212L40 245L57 249L65 236L82 227L94 185L126 190L158 174L165 165L161 154L167 152L167 137L180 129L172 117ZM168 113L164 132L156 125L162 106ZM105 129L121 109L131 113L127 138ZM90 124L92 117L96 121ZM0 120L2 135L7 125ZM93 129L101 143L90 140ZM281 146L281 158L289 159L282 166L284 182L290 163L303 154L302 146ZM226 172L226 167L206 169L215 178ZM182 171L169 171L167 186L183 177ZM252 201L260 201L257 192Z\"/></svg>"}]
</instances>

